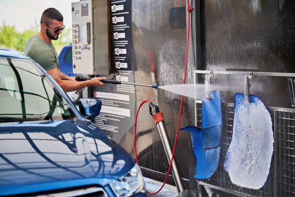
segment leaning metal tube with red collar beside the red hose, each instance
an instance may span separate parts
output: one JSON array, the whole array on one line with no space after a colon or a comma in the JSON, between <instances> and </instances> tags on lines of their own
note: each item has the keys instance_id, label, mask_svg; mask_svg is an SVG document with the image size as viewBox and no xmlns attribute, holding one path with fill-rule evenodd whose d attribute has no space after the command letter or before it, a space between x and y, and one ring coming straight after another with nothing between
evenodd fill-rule
<instances>
[{"instance_id":1,"label":"leaning metal tube with red collar beside the red hose","mask_svg":"<svg viewBox=\"0 0 295 197\"><path fill-rule=\"evenodd\" d=\"M170 165L170 161L172 159L172 146L169 140L169 136L167 134L167 130L165 127L165 123L164 123L164 118L163 118L163 114L162 113L156 113L152 116L152 118L154 119L157 129L159 131L164 149L165 149L165 153L167 156L167 159L169 161L169 165ZM178 165L176 162L176 159L174 158L172 160L172 174L173 174L173 178L175 181L175 185L177 188L177 192L180 193L181 191L184 191L184 185L180 176L180 172L178 170Z\"/></svg>"}]
</instances>

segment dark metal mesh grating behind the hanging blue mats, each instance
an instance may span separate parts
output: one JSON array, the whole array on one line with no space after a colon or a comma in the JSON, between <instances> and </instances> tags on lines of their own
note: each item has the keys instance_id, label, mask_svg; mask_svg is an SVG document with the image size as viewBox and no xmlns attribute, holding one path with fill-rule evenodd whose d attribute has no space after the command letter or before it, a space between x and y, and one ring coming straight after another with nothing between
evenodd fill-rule
<instances>
[{"instance_id":1,"label":"dark metal mesh grating behind the hanging blue mats","mask_svg":"<svg viewBox=\"0 0 295 197\"><path fill-rule=\"evenodd\" d=\"M195 106L195 122L201 127L201 104ZM223 140L219 165L213 176L205 181L222 189L231 189L249 196L295 196L295 110L269 107L273 122L274 154L266 185L259 189L247 189L231 183L223 168L232 134L233 104L223 103ZM216 188L215 187L215 188ZM234 193L234 192L232 192Z\"/></svg>"}]
</instances>

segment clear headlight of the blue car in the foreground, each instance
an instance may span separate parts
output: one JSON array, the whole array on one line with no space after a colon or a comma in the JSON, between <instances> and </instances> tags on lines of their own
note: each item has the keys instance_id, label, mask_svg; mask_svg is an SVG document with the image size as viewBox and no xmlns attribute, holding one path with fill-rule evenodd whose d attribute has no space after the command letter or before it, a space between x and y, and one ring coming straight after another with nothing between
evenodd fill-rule
<instances>
[{"instance_id":1,"label":"clear headlight of the blue car in the foreground","mask_svg":"<svg viewBox=\"0 0 295 197\"><path fill-rule=\"evenodd\" d=\"M124 176L113 180L109 185L118 197L130 196L141 192L144 188L144 183L138 165L135 164Z\"/></svg>"}]
</instances>

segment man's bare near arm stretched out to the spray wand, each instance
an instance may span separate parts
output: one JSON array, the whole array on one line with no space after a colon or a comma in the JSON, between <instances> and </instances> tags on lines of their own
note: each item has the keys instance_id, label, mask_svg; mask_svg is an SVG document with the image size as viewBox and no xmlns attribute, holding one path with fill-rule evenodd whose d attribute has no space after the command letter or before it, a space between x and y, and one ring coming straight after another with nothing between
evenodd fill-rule
<instances>
[{"instance_id":1,"label":"man's bare near arm stretched out to the spray wand","mask_svg":"<svg viewBox=\"0 0 295 197\"><path fill-rule=\"evenodd\" d=\"M89 86L101 86L105 85L104 83L101 83L100 80L105 79L105 77L100 78L93 78L91 80L87 81L67 81L67 80L61 80L60 78L60 71L55 67L51 70L47 71L49 75L58 83L58 85L65 91L65 92L71 92L75 90L79 90L84 87Z\"/></svg>"}]
</instances>

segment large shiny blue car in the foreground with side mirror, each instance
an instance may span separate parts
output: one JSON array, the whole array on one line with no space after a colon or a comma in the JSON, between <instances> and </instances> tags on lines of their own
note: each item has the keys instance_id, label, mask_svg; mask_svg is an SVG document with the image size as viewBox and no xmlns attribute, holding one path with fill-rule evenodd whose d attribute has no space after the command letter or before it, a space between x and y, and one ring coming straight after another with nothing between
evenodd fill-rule
<instances>
[{"instance_id":1,"label":"large shiny blue car in the foreground with side mirror","mask_svg":"<svg viewBox=\"0 0 295 197\"><path fill-rule=\"evenodd\" d=\"M0 196L147 196L133 158L28 57L0 50Z\"/></svg>"}]
</instances>

